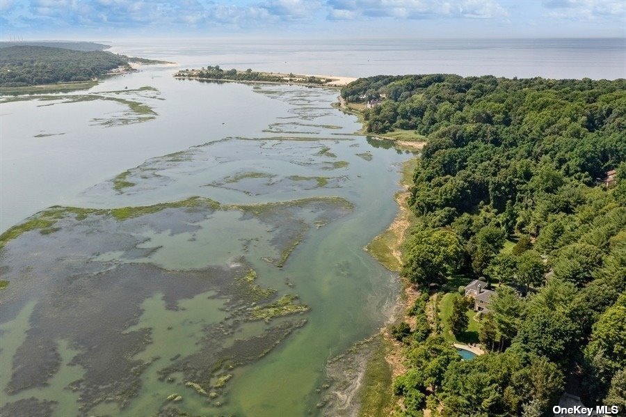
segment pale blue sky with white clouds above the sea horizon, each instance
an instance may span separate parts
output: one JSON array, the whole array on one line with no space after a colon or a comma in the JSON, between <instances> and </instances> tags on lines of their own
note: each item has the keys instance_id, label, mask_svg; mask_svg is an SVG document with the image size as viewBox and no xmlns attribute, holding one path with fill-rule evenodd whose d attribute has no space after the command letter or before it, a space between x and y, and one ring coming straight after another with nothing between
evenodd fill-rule
<instances>
[{"instance_id":1,"label":"pale blue sky with white clouds above the sea horizon","mask_svg":"<svg viewBox=\"0 0 626 417\"><path fill-rule=\"evenodd\" d=\"M0 38L624 37L626 0L0 0Z\"/></svg>"}]
</instances>

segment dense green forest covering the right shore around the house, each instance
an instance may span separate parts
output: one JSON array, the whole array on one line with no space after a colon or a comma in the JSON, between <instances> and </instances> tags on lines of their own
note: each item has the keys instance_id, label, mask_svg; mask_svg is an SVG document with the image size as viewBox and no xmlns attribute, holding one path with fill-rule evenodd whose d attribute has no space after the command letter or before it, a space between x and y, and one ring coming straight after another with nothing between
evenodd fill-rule
<instances>
[{"instance_id":1,"label":"dense green forest covering the right shore around the house","mask_svg":"<svg viewBox=\"0 0 626 417\"><path fill-rule=\"evenodd\" d=\"M378 76L342 97L383 99L368 132L427 139L403 251L422 297L392 328L407 368L396 411L548 416L565 391L623 410L626 80ZM463 285L476 278L495 293L474 319ZM427 313L442 294L447 323ZM464 361L443 328L461 340L468 315L487 353Z\"/></svg>"}]
</instances>

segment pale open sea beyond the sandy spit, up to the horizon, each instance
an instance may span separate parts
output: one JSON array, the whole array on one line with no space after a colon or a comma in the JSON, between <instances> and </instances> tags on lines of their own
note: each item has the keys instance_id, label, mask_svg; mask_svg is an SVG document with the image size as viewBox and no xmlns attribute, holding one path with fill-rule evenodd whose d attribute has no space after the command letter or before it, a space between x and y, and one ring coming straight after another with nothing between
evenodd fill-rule
<instances>
[{"instance_id":1,"label":"pale open sea beyond the sandy spit, up to the horizon","mask_svg":"<svg viewBox=\"0 0 626 417\"><path fill-rule=\"evenodd\" d=\"M110 41L113 52L181 65L367 77L626 78L626 39L166 39Z\"/></svg>"}]
</instances>

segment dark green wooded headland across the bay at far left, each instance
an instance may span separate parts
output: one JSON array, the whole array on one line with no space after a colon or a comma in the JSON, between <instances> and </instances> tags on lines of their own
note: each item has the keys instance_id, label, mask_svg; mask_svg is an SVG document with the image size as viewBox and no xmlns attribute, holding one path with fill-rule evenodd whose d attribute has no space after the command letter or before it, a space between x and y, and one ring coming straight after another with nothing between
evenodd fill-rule
<instances>
[{"instance_id":1,"label":"dark green wooded headland across the bay at far left","mask_svg":"<svg viewBox=\"0 0 626 417\"><path fill-rule=\"evenodd\" d=\"M89 81L127 65L127 58L111 52L41 46L5 47L0 48L0 86Z\"/></svg>"}]
</instances>

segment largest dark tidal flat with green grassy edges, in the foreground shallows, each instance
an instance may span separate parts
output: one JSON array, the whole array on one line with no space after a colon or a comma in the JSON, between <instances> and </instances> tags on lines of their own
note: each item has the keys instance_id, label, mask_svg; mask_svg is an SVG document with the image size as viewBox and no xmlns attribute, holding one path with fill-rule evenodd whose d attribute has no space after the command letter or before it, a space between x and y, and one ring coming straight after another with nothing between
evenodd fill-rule
<instances>
[{"instance_id":1,"label":"largest dark tidal flat with green grassy edges, in the foreground shallows","mask_svg":"<svg viewBox=\"0 0 626 417\"><path fill-rule=\"evenodd\" d=\"M3 355L3 360L13 362L2 364L13 370L2 381L3 389L16 398L24 392L51 391L47 389L49 380L64 365L58 344L65 341L77 352L65 365L83 370L79 379L65 387L80 393L81 413L97 412L97 406L103 403L115 403L124 410L141 391L142 377L151 367L161 367L156 372L157 379L172 384L172 390L186 392L185 387L191 386L196 391L191 395L213 390L217 395L207 398L207 402L219 402L225 381L216 384L212 379L218 378L220 372L267 354L306 322L303 317L276 324L273 320L299 315L309 308L300 303L296 294L277 298L276 290L257 285L257 274L245 255L233 258L228 265L186 271L145 262L163 247L151 246L143 232L168 230L172 235L186 234L190 238L210 233L217 246L218 230L202 229L210 228L217 211L236 211L239 227L248 230L248 237L266 243L262 246L262 258L282 265L305 234L314 229L313 222L330 223L351 209L351 204L341 198L248 206L223 206L213 200L190 198L112 210L53 207L35 215L24 224L35 223L39 227L17 226L8 231L12 239L3 235L3 265L8 266L3 276L10 285L0 299L2 317L15 313L19 316L29 300L37 299L23 342L10 356ZM54 232L42 233L51 226L48 222L56 225ZM271 231L257 227L258 234L253 235L252 230L259 224ZM122 253L112 260L106 256L111 251ZM239 251L245 252L243 248ZM54 265L54 269L49 270L49 265ZM155 313L154 306L145 303L161 303L163 313L168 315L168 310L193 310L190 301L195 297L201 297L200 303L195 304L196 310L204 310L211 317L212 308L213 318L220 320L206 321L202 326L193 324L195 331L188 336L195 344L191 349L179 349L178 358L166 366L159 363L159 354L141 356L154 343L153 333L159 332L154 326L162 326L149 319L145 326L140 324L148 311ZM195 317L192 321L201 320ZM268 326L257 329L254 336L236 337L246 322L256 320L264 320ZM175 324L186 331L191 325L180 320ZM178 332L174 326L167 330L171 330L172 336ZM196 349L199 352L193 352ZM172 356L174 353L170 352ZM174 376L179 373L182 377ZM24 401L13 403L10 409L27 412L37 404L42 407L29 398L20 399Z\"/></svg>"}]
</instances>

